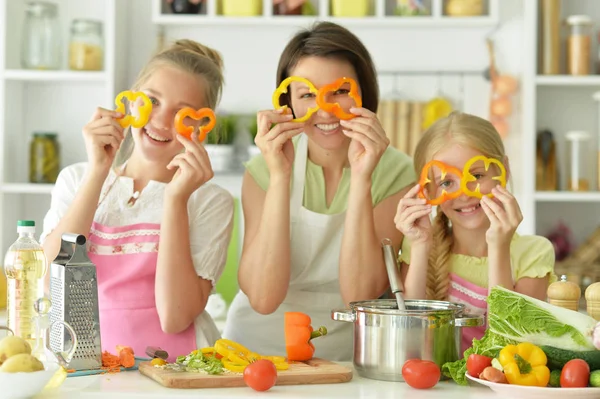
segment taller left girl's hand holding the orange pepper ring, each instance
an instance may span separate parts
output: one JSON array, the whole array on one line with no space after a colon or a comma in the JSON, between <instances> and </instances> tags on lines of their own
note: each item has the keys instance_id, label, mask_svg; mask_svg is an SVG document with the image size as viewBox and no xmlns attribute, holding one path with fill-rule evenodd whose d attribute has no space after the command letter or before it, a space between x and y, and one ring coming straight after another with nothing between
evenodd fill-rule
<instances>
[{"instance_id":1,"label":"taller left girl's hand holding the orange pepper ring","mask_svg":"<svg viewBox=\"0 0 600 399\"><path fill-rule=\"evenodd\" d=\"M167 165L167 169L178 168L173 179L167 184L165 193L172 198L187 201L190 195L215 175L204 146L198 141L198 135L192 134L188 140L177 134L177 140L185 147L185 152L177 154Z\"/></svg>"}]
</instances>

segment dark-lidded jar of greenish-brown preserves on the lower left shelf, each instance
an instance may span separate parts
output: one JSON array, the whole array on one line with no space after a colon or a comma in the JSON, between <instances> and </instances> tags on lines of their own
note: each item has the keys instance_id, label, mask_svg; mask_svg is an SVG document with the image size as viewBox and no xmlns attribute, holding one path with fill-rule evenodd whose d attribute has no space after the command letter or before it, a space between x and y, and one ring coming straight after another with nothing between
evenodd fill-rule
<instances>
[{"instance_id":1,"label":"dark-lidded jar of greenish-brown preserves on the lower left shelf","mask_svg":"<svg viewBox=\"0 0 600 399\"><path fill-rule=\"evenodd\" d=\"M56 183L60 172L60 149L56 133L34 132L29 151L29 181Z\"/></svg>"}]
</instances>

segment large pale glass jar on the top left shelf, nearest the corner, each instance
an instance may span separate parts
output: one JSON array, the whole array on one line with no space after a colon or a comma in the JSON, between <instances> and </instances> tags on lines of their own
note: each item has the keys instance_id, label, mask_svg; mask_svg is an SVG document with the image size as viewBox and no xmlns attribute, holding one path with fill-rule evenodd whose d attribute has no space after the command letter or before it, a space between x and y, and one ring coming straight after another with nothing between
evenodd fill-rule
<instances>
[{"instance_id":1,"label":"large pale glass jar on the top left shelf, nearest the corner","mask_svg":"<svg viewBox=\"0 0 600 399\"><path fill-rule=\"evenodd\" d=\"M21 42L21 66L25 69L55 70L61 66L61 57L58 6L43 1L27 3Z\"/></svg>"}]
</instances>

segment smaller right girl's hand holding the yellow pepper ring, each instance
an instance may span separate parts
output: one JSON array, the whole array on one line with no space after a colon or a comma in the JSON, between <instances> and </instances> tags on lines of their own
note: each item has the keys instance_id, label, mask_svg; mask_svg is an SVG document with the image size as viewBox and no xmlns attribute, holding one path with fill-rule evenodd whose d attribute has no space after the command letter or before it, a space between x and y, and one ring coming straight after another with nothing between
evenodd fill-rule
<instances>
[{"instance_id":1,"label":"smaller right girl's hand holding the yellow pepper ring","mask_svg":"<svg viewBox=\"0 0 600 399\"><path fill-rule=\"evenodd\" d=\"M502 186L492 189L494 198L484 196L481 208L490 220L485 234L488 245L509 245L517 227L523 221L521 208L515 197Z\"/></svg>"}]
</instances>

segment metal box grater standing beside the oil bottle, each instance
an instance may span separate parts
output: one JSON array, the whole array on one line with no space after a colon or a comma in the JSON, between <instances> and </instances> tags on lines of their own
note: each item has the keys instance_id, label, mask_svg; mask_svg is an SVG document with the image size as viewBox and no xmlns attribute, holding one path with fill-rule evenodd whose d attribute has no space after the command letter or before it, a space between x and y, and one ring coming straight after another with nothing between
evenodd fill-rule
<instances>
[{"instance_id":1,"label":"metal box grater standing beside the oil bottle","mask_svg":"<svg viewBox=\"0 0 600 399\"><path fill-rule=\"evenodd\" d=\"M88 258L85 243L83 235L63 234L60 253L50 266L50 321L67 322L77 334L77 349L69 363L74 370L102 367L96 265ZM52 351L68 351L71 345L64 328L52 329Z\"/></svg>"}]
</instances>

